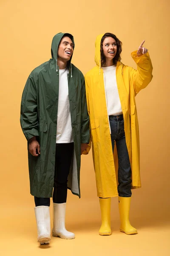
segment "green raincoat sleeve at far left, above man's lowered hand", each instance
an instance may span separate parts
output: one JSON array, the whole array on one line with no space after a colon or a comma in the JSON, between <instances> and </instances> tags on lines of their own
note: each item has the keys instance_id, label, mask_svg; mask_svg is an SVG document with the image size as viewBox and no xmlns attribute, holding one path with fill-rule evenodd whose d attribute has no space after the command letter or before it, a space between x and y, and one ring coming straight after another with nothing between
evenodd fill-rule
<instances>
[{"instance_id":1,"label":"green raincoat sleeve at far left, above man's lowered hand","mask_svg":"<svg viewBox=\"0 0 170 256\"><path fill-rule=\"evenodd\" d=\"M21 100L20 124L27 140L39 136L37 113L37 88L34 77L30 75L23 90Z\"/></svg>"}]
</instances>

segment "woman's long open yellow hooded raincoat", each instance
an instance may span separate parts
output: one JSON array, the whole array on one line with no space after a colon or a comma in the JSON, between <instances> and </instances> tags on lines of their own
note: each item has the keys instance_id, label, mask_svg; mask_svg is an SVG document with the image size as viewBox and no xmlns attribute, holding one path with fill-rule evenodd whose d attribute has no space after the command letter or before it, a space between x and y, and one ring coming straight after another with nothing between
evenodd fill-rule
<instances>
[{"instance_id":1,"label":"woman's long open yellow hooded raincoat","mask_svg":"<svg viewBox=\"0 0 170 256\"><path fill-rule=\"evenodd\" d=\"M85 75L88 114L90 116L91 142L96 174L97 195L102 198L118 195L115 161L111 144L108 111L105 96L103 70L100 67L100 42L103 35L96 38L96 67ZM152 80L152 63L149 53L138 57L137 51L131 56L137 70L125 66L120 61L116 66L116 81L124 116L125 138L132 169L132 189L141 187L139 170L139 126L135 96ZM91 143L87 151L91 148Z\"/></svg>"}]
</instances>

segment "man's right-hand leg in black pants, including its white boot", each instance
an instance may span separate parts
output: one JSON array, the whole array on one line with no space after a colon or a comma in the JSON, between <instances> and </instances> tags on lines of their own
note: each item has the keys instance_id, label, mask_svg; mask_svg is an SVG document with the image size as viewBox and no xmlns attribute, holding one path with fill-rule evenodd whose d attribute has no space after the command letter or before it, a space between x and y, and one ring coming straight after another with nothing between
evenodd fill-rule
<instances>
[{"instance_id":1,"label":"man's right-hand leg in black pants, including its white boot","mask_svg":"<svg viewBox=\"0 0 170 256\"><path fill-rule=\"evenodd\" d=\"M73 157L74 143L56 144L56 165L53 192L53 236L63 239L75 238L74 233L65 229L65 207L67 201L67 182Z\"/></svg>"}]
</instances>

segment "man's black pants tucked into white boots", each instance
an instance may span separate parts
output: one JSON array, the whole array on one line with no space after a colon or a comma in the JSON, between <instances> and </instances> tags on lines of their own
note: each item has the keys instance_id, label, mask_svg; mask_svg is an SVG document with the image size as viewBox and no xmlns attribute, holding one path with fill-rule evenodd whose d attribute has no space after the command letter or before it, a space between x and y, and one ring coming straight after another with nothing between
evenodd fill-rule
<instances>
[{"instance_id":1,"label":"man's black pants tucked into white boots","mask_svg":"<svg viewBox=\"0 0 170 256\"><path fill-rule=\"evenodd\" d=\"M74 143L56 144L53 202L57 204L66 203L67 200L67 178L73 149ZM37 198L35 196L34 201L35 206L50 206L50 198Z\"/></svg>"}]
</instances>

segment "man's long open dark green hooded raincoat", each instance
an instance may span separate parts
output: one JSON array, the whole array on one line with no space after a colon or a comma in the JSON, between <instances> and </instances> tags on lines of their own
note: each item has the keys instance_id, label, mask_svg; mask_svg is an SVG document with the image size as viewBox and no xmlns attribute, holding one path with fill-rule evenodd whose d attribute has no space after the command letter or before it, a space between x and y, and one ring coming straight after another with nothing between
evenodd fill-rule
<instances>
[{"instance_id":1,"label":"man's long open dark green hooded raincoat","mask_svg":"<svg viewBox=\"0 0 170 256\"><path fill-rule=\"evenodd\" d=\"M20 123L27 140L37 136L41 154L32 156L28 151L30 192L36 197L52 197L54 186L57 108L59 97L59 67L57 52L65 34L54 36L52 58L35 68L23 90ZM74 43L74 38L72 41ZM81 71L68 62L68 96L71 125L74 136L74 154L68 176L68 189L80 198L81 143L89 143L89 117L85 96L85 81Z\"/></svg>"}]
</instances>

